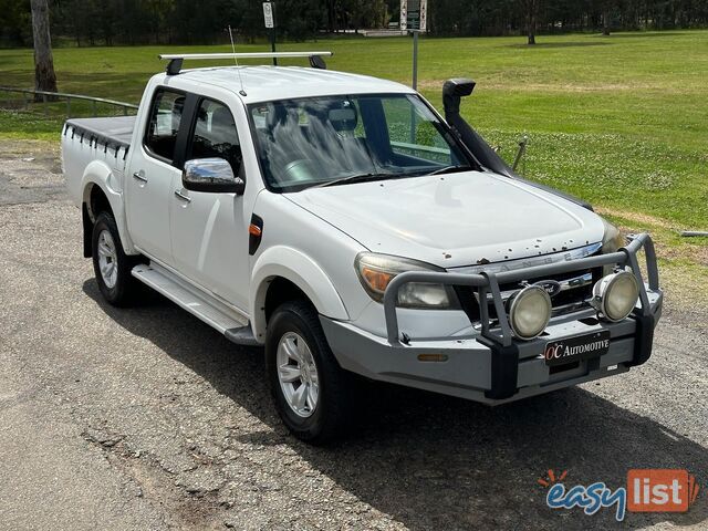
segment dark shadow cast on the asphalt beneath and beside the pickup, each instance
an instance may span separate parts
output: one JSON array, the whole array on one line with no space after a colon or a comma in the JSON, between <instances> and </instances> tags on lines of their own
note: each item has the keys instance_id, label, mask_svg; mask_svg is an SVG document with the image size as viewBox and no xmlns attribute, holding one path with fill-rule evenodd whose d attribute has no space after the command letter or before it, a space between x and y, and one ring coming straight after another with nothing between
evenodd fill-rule
<instances>
[{"instance_id":1,"label":"dark shadow cast on the asphalt beneath and beside the pickup","mask_svg":"<svg viewBox=\"0 0 708 531\"><path fill-rule=\"evenodd\" d=\"M608 529L615 508L589 517L551 510L537 480L568 470L565 485L626 483L631 468L688 468L705 481L708 452L662 424L570 388L489 408L391 385L366 384L361 418L341 444L292 438L270 406L262 353L241 348L158 294L136 309L107 305L95 281L83 290L117 324L145 337L264 425L241 442L288 445L358 500L409 529ZM637 398L641 399L641 391ZM705 485L705 483L704 483ZM706 494L687 513L627 513L624 525L708 520Z\"/></svg>"}]
</instances>

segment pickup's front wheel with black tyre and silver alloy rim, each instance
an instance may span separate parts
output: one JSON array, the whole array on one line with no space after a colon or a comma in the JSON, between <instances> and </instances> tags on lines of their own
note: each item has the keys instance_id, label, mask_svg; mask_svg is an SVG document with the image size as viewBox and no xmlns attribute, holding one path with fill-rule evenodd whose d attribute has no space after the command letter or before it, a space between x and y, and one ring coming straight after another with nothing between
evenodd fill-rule
<instances>
[{"instance_id":1,"label":"pickup's front wheel with black tyre and silver alloy rim","mask_svg":"<svg viewBox=\"0 0 708 531\"><path fill-rule=\"evenodd\" d=\"M273 312L266 367L275 408L295 437L321 445L344 434L351 375L334 358L311 304L288 302Z\"/></svg>"}]
</instances>

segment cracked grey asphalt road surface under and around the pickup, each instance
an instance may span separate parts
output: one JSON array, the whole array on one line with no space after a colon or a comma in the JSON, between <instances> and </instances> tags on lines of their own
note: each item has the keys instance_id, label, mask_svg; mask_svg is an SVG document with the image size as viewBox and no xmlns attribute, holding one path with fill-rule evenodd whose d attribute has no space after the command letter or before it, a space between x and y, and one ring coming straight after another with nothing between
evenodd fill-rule
<instances>
[{"instance_id":1,"label":"cracked grey asphalt road surface under and around the pickup","mask_svg":"<svg viewBox=\"0 0 708 531\"><path fill-rule=\"evenodd\" d=\"M550 468L613 488L688 468L689 512L623 527L708 529L707 320L670 293L626 375L498 408L372 386L350 438L312 448L278 420L259 351L157 295L102 301L58 153L38 146L0 144L0 529L618 525L549 509Z\"/></svg>"}]
</instances>

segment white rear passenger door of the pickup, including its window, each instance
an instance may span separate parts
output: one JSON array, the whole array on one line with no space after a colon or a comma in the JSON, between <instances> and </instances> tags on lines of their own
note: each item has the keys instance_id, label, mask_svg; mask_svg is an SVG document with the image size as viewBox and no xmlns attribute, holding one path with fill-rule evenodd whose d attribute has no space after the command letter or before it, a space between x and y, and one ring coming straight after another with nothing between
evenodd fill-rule
<instances>
[{"instance_id":1,"label":"white rear passenger door of the pickup, including its window","mask_svg":"<svg viewBox=\"0 0 708 531\"><path fill-rule=\"evenodd\" d=\"M127 225L142 252L171 266L170 212L173 183L181 176L175 154L187 95L157 87L143 123L143 142L133 146L129 175L126 176ZM139 126L139 125L138 125ZM185 137L186 132L181 133Z\"/></svg>"}]
</instances>

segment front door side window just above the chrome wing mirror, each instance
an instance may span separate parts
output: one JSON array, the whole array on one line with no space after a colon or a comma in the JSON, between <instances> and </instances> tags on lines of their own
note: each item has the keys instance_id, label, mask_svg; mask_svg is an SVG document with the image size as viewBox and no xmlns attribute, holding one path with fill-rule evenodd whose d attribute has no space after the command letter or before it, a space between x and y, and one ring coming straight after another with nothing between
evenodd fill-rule
<instances>
[{"instance_id":1,"label":"front door side window just above the chrome wing mirror","mask_svg":"<svg viewBox=\"0 0 708 531\"><path fill-rule=\"evenodd\" d=\"M218 102L204 100L197 111L195 134L191 139L189 159L219 157L226 159L239 175L241 146L236 132L233 115Z\"/></svg>"}]
</instances>

